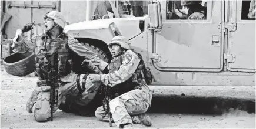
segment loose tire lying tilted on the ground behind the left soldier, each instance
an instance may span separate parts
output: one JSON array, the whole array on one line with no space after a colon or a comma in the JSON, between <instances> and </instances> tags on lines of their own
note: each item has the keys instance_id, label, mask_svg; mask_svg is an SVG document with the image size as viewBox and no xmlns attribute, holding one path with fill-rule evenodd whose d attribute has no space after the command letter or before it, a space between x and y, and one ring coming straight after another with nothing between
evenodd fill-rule
<instances>
[{"instance_id":1,"label":"loose tire lying tilted on the ground behind the left soldier","mask_svg":"<svg viewBox=\"0 0 256 129\"><path fill-rule=\"evenodd\" d=\"M14 53L4 59L4 67L8 74L25 76L35 71L35 53Z\"/></svg>"}]
</instances>

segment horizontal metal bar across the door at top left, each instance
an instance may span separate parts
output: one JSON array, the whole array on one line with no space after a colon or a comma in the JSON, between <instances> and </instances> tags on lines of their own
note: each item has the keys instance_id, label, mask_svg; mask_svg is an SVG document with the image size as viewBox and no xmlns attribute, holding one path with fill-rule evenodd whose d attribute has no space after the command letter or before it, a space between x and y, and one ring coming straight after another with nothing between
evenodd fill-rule
<instances>
[{"instance_id":1,"label":"horizontal metal bar across the door at top left","mask_svg":"<svg viewBox=\"0 0 256 129\"><path fill-rule=\"evenodd\" d=\"M21 7L21 8L52 8L52 9L56 9L56 3L52 2L52 5L40 5L39 1L38 1L38 5L29 5L29 4L25 4L25 1L23 4L12 4L11 1L8 1L7 3L7 7L8 8L12 8L12 7Z\"/></svg>"}]
</instances>

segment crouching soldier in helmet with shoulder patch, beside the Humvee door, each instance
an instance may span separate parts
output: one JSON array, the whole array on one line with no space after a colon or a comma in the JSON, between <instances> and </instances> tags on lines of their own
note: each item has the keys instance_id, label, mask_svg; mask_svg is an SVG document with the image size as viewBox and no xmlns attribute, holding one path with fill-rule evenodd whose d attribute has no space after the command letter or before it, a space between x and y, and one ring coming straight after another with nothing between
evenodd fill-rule
<instances>
[{"instance_id":1,"label":"crouching soldier in helmet with shoulder patch, beside the Humvee door","mask_svg":"<svg viewBox=\"0 0 256 129\"><path fill-rule=\"evenodd\" d=\"M108 46L113 56L107 66L109 73L90 74L90 80L117 90L119 96L109 102L111 120L121 128L132 127L133 123L151 126L145 112L151 105L152 92L142 78L142 57L131 50L124 36L115 36ZM95 116L101 121L109 121L102 106L97 108Z\"/></svg>"}]
</instances>

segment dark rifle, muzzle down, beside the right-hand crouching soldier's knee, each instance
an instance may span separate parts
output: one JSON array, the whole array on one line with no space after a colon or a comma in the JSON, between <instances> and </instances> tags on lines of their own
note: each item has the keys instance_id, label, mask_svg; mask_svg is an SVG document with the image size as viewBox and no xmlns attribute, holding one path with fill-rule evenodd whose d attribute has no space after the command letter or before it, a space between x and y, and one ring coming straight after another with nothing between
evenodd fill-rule
<instances>
[{"instance_id":1,"label":"dark rifle, muzzle down, beside the right-hand crouching soldier's knee","mask_svg":"<svg viewBox=\"0 0 256 129\"><path fill-rule=\"evenodd\" d=\"M111 114L110 107L109 107L109 101L112 100L111 87L108 86L108 85L107 86L102 86L102 90L104 92L103 109L105 111L105 115L108 114L108 116L109 116L109 126L112 127L112 123L111 123L112 114Z\"/></svg>"}]
</instances>

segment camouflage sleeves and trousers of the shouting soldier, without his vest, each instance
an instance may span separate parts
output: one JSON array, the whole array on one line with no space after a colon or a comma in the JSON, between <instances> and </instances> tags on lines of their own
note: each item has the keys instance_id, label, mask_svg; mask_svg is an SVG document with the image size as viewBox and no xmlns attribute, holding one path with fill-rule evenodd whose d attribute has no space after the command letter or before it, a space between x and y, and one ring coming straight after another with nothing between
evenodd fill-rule
<instances>
[{"instance_id":1,"label":"camouflage sleeves and trousers of the shouting soldier, without his vest","mask_svg":"<svg viewBox=\"0 0 256 129\"><path fill-rule=\"evenodd\" d=\"M14 52L24 52L24 50L32 50L39 58L39 55L42 55L45 52L45 50L42 49L44 43L53 43L50 42L50 40L52 39L50 39L49 36L46 35L46 33L36 35L29 39L25 39L25 36L19 35L19 33L21 33L21 29L17 30L16 37L14 38L14 43L12 45L12 50ZM86 47L82 46L78 42L78 40L68 36L66 33L62 33L58 38L53 40L59 40L61 41L61 43L64 42L64 46L68 47L68 53L72 51L73 53L75 53L75 55L84 56L86 59L94 62L94 65L99 67L99 69L101 70L104 69L105 66L107 66L107 63L101 60L96 53L88 50ZM51 51L52 49L49 50ZM78 89L77 82L79 82L80 86L82 86L82 77L84 76L78 76L78 74L72 71L69 72L67 75L60 77L60 80L58 81L59 87L56 88L56 90L58 90L58 104L55 104L54 112L58 109L59 104L61 103L62 99L64 99L64 96L77 96L79 93L81 93L81 91ZM87 97L87 99L84 99L84 104L88 104L89 101L94 98L99 87L98 82L91 82L91 80L88 80L88 77L90 77L90 75L87 76L85 81L86 90L83 95L84 97ZM78 79L79 81L77 81ZM39 76L37 86L35 87L35 90L32 92L32 95L29 98L28 103L26 104L27 111L34 114L36 121L47 121L50 117L51 108L49 104L49 91L50 86L47 86L44 77Z\"/></svg>"}]
</instances>

